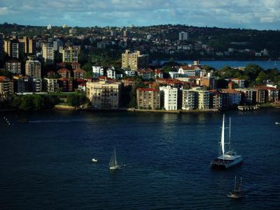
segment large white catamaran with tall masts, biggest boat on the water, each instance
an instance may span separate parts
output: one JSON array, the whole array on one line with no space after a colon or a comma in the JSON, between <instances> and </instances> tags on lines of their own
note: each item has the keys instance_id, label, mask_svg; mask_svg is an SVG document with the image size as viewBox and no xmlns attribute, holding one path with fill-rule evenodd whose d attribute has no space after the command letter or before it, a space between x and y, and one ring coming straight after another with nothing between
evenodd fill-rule
<instances>
[{"instance_id":1,"label":"large white catamaran with tall masts, biggest boat on the water","mask_svg":"<svg viewBox=\"0 0 280 210\"><path fill-rule=\"evenodd\" d=\"M230 119L231 124L231 119ZM229 127L230 128L230 127ZM211 161L212 167L222 167L229 168L237 165L239 162L242 162L241 155L237 155L230 148L230 134L229 141L225 142L225 115L223 115L223 125L222 125L222 134L221 134L221 148L220 148L220 156ZM225 151L225 145L228 145L228 151Z\"/></svg>"}]
</instances>

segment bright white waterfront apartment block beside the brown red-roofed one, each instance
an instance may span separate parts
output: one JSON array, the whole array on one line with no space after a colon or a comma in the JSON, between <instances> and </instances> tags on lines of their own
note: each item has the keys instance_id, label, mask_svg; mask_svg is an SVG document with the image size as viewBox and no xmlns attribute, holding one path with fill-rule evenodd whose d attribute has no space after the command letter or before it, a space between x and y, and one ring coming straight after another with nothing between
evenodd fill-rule
<instances>
[{"instance_id":1,"label":"bright white waterfront apartment block beside the brown red-roofed one","mask_svg":"<svg viewBox=\"0 0 280 210\"><path fill-rule=\"evenodd\" d=\"M177 110L178 89L167 86L160 87L161 99L164 103L165 110Z\"/></svg>"}]
</instances>

